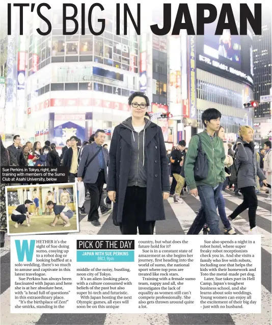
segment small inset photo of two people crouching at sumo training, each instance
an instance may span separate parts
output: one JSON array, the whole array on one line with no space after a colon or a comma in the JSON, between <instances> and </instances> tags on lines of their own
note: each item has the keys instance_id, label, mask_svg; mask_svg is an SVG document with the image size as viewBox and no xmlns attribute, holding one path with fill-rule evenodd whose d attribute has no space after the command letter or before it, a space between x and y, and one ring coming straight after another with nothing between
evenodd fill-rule
<instances>
[{"instance_id":1,"label":"small inset photo of two people crouching at sumo training","mask_svg":"<svg viewBox=\"0 0 272 325\"><path fill-rule=\"evenodd\" d=\"M6 187L8 235L78 232L74 183Z\"/></svg>"}]
</instances>

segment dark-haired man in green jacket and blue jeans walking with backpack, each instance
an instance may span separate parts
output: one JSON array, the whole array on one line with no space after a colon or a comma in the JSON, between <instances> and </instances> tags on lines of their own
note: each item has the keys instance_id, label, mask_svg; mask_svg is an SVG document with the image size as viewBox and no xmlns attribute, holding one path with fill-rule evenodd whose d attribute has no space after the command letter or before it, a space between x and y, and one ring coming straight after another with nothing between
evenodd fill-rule
<instances>
[{"instance_id":1,"label":"dark-haired man in green jacket and blue jeans walking with backpack","mask_svg":"<svg viewBox=\"0 0 272 325\"><path fill-rule=\"evenodd\" d=\"M198 235L205 222L209 224L210 235L220 235L216 202L225 181L225 149L215 131L220 128L221 113L209 108L201 119L206 129L192 137L184 165L190 193L199 195L201 201L201 208L187 235Z\"/></svg>"}]
</instances>

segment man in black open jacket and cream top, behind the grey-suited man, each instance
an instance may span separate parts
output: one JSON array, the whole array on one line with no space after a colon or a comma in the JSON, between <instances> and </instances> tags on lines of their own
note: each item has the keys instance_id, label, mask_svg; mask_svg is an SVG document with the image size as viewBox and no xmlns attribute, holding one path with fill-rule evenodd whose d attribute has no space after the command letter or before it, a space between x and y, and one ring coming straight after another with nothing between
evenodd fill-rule
<instances>
[{"instance_id":1,"label":"man in black open jacket and cream top, behind the grey-suited man","mask_svg":"<svg viewBox=\"0 0 272 325\"><path fill-rule=\"evenodd\" d=\"M80 148L77 146L78 138L76 136L72 136L70 141L71 146L64 153L63 166L68 168L68 181L74 183L77 177L77 155Z\"/></svg>"}]
</instances>

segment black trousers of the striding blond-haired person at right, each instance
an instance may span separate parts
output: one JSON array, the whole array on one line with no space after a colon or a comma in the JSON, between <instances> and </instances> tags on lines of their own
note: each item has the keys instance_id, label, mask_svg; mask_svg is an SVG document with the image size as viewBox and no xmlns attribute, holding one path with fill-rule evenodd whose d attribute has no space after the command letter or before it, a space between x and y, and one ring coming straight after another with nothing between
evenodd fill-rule
<instances>
[{"instance_id":1,"label":"black trousers of the striding blond-haired person at right","mask_svg":"<svg viewBox=\"0 0 272 325\"><path fill-rule=\"evenodd\" d=\"M250 229L256 227L256 211L258 207L258 198L254 186L242 187L243 202L232 212L231 219L235 219L238 214L249 208Z\"/></svg>"}]
</instances>

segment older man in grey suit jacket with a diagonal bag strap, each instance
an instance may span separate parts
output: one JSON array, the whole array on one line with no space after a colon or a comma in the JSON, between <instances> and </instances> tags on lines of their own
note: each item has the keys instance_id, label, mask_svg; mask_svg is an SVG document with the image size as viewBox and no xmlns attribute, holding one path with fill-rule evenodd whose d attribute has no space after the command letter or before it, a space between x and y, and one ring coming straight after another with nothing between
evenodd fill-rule
<instances>
[{"instance_id":1,"label":"older man in grey suit jacket with a diagonal bag strap","mask_svg":"<svg viewBox=\"0 0 272 325\"><path fill-rule=\"evenodd\" d=\"M88 221L92 222L93 226L100 226L98 208L101 201L103 185L107 181L107 166L108 166L108 153L102 147L105 141L105 131L97 130L94 135L94 142L86 145L81 154L77 180L82 181L82 176L88 162L99 152L92 162L87 167L83 182L91 195L91 207L88 215Z\"/></svg>"}]
</instances>

